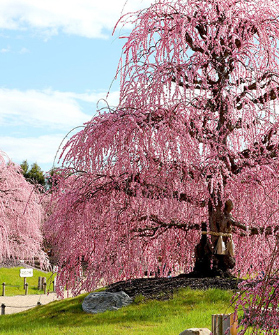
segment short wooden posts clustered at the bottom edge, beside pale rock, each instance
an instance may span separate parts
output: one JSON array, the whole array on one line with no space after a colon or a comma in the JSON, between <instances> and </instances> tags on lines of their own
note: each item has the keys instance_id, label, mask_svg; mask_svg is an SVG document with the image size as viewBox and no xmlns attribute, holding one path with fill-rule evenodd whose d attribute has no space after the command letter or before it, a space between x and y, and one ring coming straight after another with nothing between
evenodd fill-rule
<instances>
[{"instance_id":1,"label":"short wooden posts clustered at the bottom edge, beside pale rock","mask_svg":"<svg viewBox=\"0 0 279 335\"><path fill-rule=\"evenodd\" d=\"M212 334L213 335L237 335L238 321L234 321L234 314L213 314Z\"/></svg>"}]
</instances>

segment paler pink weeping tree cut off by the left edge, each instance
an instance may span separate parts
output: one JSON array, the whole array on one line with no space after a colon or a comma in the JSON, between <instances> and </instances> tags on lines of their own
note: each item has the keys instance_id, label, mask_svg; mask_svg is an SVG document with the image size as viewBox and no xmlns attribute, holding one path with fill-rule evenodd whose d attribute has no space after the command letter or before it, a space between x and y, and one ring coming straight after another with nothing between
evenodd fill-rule
<instances>
[{"instance_id":1,"label":"paler pink weeping tree cut off by the left edge","mask_svg":"<svg viewBox=\"0 0 279 335\"><path fill-rule=\"evenodd\" d=\"M0 262L7 258L44 259L41 251L43 210L35 186L19 165L0 152Z\"/></svg>"}]
</instances>

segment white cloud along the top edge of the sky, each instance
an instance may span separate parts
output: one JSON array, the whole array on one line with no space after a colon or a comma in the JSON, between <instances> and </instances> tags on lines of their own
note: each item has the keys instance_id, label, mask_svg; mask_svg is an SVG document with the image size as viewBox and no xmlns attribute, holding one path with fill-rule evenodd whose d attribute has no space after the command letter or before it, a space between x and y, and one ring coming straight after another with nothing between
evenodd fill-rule
<instances>
[{"instance_id":1,"label":"white cloud along the top edge of the sky","mask_svg":"<svg viewBox=\"0 0 279 335\"><path fill-rule=\"evenodd\" d=\"M63 31L87 38L106 38L126 0L1 0L0 28L33 29L45 36ZM149 6L151 0L128 0L123 13Z\"/></svg>"}]
</instances>

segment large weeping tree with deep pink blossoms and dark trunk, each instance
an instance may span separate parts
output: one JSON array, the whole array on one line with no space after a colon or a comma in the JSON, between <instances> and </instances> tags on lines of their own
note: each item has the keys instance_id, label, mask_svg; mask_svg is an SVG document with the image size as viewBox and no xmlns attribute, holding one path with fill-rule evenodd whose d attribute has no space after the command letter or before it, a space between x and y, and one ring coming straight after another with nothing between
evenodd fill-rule
<instances>
[{"instance_id":1,"label":"large weeping tree with deep pink blossoms and dark trunk","mask_svg":"<svg viewBox=\"0 0 279 335\"><path fill-rule=\"evenodd\" d=\"M279 229L278 6L162 0L121 18L135 28L119 105L63 151L47 223L61 288L265 269Z\"/></svg>"}]
</instances>

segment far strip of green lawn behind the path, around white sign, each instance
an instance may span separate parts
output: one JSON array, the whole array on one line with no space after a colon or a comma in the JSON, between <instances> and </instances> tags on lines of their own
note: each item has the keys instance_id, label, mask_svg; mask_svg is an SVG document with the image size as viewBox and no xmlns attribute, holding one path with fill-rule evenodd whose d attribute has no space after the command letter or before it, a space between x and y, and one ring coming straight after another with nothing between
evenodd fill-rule
<instances>
[{"instance_id":1,"label":"far strip of green lawn behind the path, around white sign","mask_svg":"<svg viewBox=\"0 0 279 335\"><path fill-rule=\"evenodd\" d=\"M6 283L6 296L11 295L24 295L23 278L20 278L20 269L24 267L13 267L13 268L0 268L0 296L2 295L2 283ZM43 272L39 270L33 270L33 277L27 278L28 283L28 294L38 295L43 291L38 290L38 277L47 278L47 290L52 291L53 286L51 285L54 275L51 272ZM55 275L56 276L56 275Z\"/></svg>"}]
</instances>

